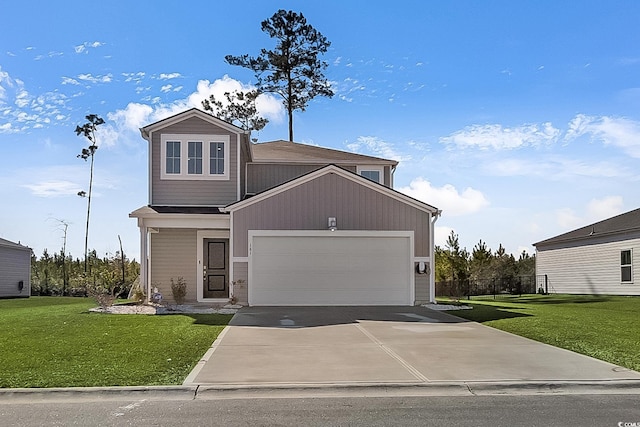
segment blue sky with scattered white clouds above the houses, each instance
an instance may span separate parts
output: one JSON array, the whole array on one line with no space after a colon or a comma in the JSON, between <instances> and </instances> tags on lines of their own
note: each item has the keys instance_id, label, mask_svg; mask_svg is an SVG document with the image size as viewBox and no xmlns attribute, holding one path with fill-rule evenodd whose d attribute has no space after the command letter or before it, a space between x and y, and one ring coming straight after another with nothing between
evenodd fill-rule
<instances>
[{"instance_id":1,"label":"blue sky with scattered white clouds above the houses","mask_svg":"<svg viewBox=\"0 0 640 427\"><path fill-rule=\"evenodd\" d=\"M395 186L454 230L513 253L640 206L637 1L5 2L0 37L0 237L82 257L89 165L74 133L106 120L89 246L139 258L146 205L138 129L253 75L224 62L302 12L331 42L336 95L296 114L299 142L400 161ZM28 25L27 25L28 23ZM287 138L273 98L259 141Z\"/></svg>"}]
</instances>

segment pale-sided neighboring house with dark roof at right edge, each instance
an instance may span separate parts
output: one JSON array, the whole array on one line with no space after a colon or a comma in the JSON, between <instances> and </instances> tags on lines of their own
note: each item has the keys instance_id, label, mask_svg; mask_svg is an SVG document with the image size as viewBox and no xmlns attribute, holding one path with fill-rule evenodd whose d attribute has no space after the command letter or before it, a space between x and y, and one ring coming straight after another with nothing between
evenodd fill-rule
<instances>
[{"instance_id":1,"label":"pale-sided neighboring house with dark roof at right edge","mask_svg":"<svg viewBox=\"0 0 640 427\"><path fill-rule=\"evenodd\" d=\"M640 295L640 209L534 243L539 285L567 294Z\"/></svg>"}]
</instances>

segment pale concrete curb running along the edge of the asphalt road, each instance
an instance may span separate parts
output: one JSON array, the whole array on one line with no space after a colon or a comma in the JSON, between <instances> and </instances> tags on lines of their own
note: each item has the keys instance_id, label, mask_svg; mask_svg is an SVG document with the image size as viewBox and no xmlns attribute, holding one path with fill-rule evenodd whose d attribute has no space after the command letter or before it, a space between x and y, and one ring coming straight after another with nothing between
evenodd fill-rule
<instances>
[{"instance_id":1,"label":"pale concrete curb running along the edge of the asphalt road","mask_svg":"<svg viewBox=\"0 0 640 427\"><path fill-rule=\"evenodd\" d=\"M0 389L2 403L96 400L215 400L286 397L638 394L640 380L426 383L221 384Z\"/></svg>"}]
</instances>

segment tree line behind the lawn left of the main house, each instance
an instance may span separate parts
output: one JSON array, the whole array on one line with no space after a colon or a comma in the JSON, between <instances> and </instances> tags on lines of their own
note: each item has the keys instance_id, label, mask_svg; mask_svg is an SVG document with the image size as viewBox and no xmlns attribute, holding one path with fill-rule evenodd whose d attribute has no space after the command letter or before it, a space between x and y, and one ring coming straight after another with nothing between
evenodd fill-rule
<instances>
[{"instance_id":1,"label":"tree line behind the lawn left of the main house","mask_svg":"<svg viewBox=\"0 0 640 427\"><path fill-rule=\"evenodd\" d=\"M98 257L95 249L85 260L73 258L63 250L47 249L40 257L31 255L31 294L47 296L93 296L109 294L127 297L140 274L140 264L124 252Z\"/></svg>"}]
</instances>

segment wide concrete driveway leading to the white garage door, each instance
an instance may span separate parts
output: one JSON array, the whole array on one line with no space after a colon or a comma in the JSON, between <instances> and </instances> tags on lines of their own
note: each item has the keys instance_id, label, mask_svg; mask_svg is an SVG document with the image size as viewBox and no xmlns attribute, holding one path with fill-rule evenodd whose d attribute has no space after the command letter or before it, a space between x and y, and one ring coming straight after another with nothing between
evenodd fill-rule
<instances>
[{"instance_id":1,"label":"wide concrete driveway leading to the white garage door","mask_svg":"<svg viewBox=\"0 0 640 427\"><path fill-rule=\"evenodd\" d=\"M640 373L424 307L248 307L184 384L616 380Z\"/></svg>"}]
</instances>

